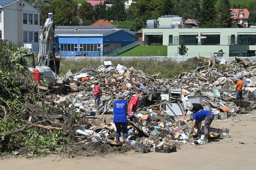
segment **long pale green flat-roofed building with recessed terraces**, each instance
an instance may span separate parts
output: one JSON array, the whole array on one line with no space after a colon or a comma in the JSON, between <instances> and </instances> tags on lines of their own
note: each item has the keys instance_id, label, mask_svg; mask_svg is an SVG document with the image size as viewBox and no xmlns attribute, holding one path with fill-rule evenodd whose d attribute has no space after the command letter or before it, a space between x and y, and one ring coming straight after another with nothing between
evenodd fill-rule
<instances>
[{"instance_id":1,"label":"long pale green flat-roofed building with recessed terraces","mask_svg":"<svg viewBox=\"0 0 256 170\"><path fill-rule=\"evenodd\" d=\"M256 27L251 28L186 28L170 25L143 28L142 41L148 45L168 46L168 56L178 57L184 43L186 56L212 57L223 51L224 57L252 57L256 51ZM178 22L177 22L178 24Z\"/></svg>"}]
</instances>

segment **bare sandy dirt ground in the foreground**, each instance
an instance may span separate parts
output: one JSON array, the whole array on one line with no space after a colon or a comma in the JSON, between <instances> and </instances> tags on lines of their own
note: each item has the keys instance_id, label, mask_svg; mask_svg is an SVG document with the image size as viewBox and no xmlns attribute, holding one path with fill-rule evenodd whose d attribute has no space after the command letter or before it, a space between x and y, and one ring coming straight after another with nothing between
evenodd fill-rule
<instances>
[{"instance_id":1,"label":"bare sandy dirt ground in the foreground","mask_svg":"<svg viewBox=\"0 0 256 170\"><path fill-rule=\"evenodd\" d=\"M255 111L213 121L213 128L230 129L231 138L199 146L181 143L180 150L169 154L151 149L147 154L129 151L106 157L65 158L54 154L40 158L2 158L0 169L255 169L255 122Z\"/></svg>"}]
</instances>

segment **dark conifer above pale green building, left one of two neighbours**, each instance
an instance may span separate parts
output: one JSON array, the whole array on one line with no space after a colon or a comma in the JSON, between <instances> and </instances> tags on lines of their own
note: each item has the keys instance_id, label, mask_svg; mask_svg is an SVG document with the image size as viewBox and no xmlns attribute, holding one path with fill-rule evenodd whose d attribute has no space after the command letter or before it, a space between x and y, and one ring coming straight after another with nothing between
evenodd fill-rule
<instances>
[{"instance_id":1,"label":"dark conifer above pale green building, left one of two neighbours","mask_svg":"<svg viewBox=\"0 0 256 170\"><path fill-rule=\"evenodd\" d=\"M202 9L199 12L198 20L203 26L207 22L215 22L216 19L216 10L215 10L215 0L203 0Z\"/></svg>"}]
</instances>

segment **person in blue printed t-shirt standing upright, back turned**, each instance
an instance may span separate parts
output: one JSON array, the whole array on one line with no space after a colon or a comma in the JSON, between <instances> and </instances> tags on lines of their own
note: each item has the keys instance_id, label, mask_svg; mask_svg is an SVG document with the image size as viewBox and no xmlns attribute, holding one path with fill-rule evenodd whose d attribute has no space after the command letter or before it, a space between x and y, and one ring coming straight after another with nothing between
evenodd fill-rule
<instances>
[{"instance_id":1,"label":"person in blue printed t-shirt standing upright, back turned","mask_svg":"<svg viewBox=\"0 0 256 170\"><path fill-rule=\"evenodd\" d=\"M126 113L128 111L128 104L127 101L124 100L124 94L118 94L117 101L114 102L113 106L113 114L114 120L113 123L116 125L116 142L119 141L119 137L121 136L121 129L123 130L124 140L128 137L128 130L127 130L127 118ZM121 128L122 127L122 128Z\"/></svg>"}]
</instances>

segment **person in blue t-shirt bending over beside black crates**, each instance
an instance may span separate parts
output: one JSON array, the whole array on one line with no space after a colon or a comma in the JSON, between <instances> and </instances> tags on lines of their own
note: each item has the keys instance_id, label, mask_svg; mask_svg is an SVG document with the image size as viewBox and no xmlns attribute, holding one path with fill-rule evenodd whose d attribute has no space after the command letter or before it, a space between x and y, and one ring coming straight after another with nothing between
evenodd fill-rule
<instances>
[{"instance_id":1,"label":"person in blue t-shirt bending over beside black crates","mask_svg":"<svg viewBox=\"0 0 256 170\"><path fill-rule=\"evenodd\" d=\"M196 112L195 114L192 113L190 116L190 119L193 120L193 124L192 124L190 134L192 134L192 132L196 126L196 121L198 121L198 128L197 128L197 134L198 134L199 131L201 130L202 121L204 120L204 139L203 139L203 141L205 143L207 143L208 137L209 137L209 126L212 123L213 116L214 115L213 115L212 111L208 111L208 110L202 110L202 111Z\"/></svg>"}]
</instances>

